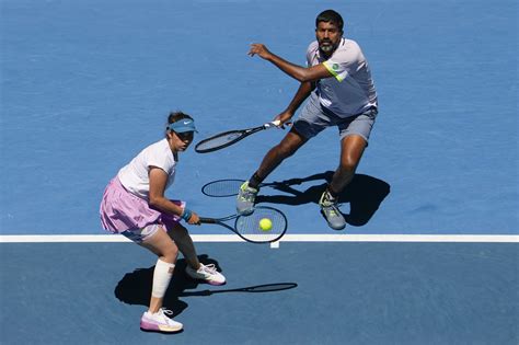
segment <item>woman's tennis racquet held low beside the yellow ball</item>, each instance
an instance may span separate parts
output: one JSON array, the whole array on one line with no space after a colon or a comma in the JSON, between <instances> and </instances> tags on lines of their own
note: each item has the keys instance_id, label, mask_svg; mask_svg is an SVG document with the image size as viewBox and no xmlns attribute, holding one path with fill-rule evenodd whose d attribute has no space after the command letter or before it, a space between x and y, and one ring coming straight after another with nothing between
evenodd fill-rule
<instances>
[{"instance_id":1,"label":"woman's tennis racquet held low beside the yellow ball","mask_svg":"<svg viewBox=\"0 0 519 345\"><path fill-rule=\"evenodd\" d=\"M262 230L260 221L269 219L272 229ZM226 221L234 219L234 227L226 223ZM252 215L232 215L224 218L203 218L201 223L211 223L222 226L240 238L252 243L269 243L279 240L287 231L288 221L285 215L273 207L257 206Z\"/></svg>"}]
</instances>

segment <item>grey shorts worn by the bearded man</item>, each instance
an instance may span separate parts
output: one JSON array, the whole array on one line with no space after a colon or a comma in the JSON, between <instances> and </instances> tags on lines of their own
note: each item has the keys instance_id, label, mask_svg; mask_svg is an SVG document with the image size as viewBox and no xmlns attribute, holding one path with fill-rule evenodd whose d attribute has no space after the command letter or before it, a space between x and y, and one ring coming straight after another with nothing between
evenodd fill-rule
<instances>
[{"instance_id":1,"label":"grey shorts worn by the bearded man","mask_svg":"<svg viewBox=\"0 0 519 345\"><path fill-rule=\"evenodd\" d=\"M341 140L349 135L359 135L368 143L377 114L377 108L372 107L361 114L343 118L323 107L312 94L292 128L305 139L310 139L327 127L337 126Z\"/></svg>"}]
</instances>

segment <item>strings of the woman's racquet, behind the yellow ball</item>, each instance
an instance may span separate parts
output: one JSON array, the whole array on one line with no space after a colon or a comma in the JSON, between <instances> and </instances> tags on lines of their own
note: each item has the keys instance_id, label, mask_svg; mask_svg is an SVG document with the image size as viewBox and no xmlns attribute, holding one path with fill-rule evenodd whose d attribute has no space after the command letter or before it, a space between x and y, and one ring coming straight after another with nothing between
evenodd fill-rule
<instances>
[{"instance_id":1,"label":"strings of the woman's racquet, behind the yellow ball","mask_svg":"<svg viewBox=\"0 0 519 345\"><path fill-rule=\"evenodd\" d=\"M270 219L273 227L270 230L262 230L260 220ZM287 229L287 218L275 209L255 208L249 216L240 216L235 220L235 230L251 241L270 242L280 238Z\"/></svg>"}]
</instances>

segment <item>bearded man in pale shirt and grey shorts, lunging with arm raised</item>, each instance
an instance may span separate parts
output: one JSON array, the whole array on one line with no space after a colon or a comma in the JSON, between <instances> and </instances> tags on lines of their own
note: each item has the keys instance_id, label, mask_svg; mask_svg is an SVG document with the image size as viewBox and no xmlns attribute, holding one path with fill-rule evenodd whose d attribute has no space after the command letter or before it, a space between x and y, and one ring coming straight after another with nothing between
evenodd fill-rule
<instances>
[{"instance_id":1,"label":"bearded man in pale shirt and grey shorts, lunging with arm raised","mask_svg":"<svg viewBox=\"0 0 519 345\"><path fill-rule=\"evenodd\" d=\"M319 205L328 226L342 230L346 220L337 207L339 193L351 181L368 146L378 114L377 92L370 68L355 41L343 37L343 19L333 10L315 20L315 37L307 50L307 67L293 65L270 53L263 44L252 44L250 56L257 55L301 82L288 107L275 117L280 126L289 124L296 111L308 99L290 131L264 157L260 168L239 191L237 210L253 211L260 184L286 158L323 129L337 126L341 138L341 162Z\"/></svg>"}]
</instances>

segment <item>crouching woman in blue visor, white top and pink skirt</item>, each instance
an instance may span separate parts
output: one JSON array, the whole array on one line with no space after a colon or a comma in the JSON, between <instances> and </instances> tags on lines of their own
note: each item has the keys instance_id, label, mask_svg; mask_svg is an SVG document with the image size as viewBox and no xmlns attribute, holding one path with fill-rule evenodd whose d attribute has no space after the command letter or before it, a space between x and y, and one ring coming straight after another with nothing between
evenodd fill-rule
<instances>
[{"instance_id":1,"label":"crouching woman in blue visor, white top and pink skirt","mask_svg":"<svg viewBox=\"0 0 519 345\"><path fill-rule=\"evenodd\" d=\"M145 331L177 332L183 325L162 308L165 290L175 268L178 251L194 279L222 285L226 278L214 265L198 261L193 240L181 225L199 225L198 215L184 202L165 198L164 191L175 177L178 154L192 143L195 123L189 115L171 113L165 138L145 148L108 183L101 202L104 229L120 233L158 256L148 311L140 319Z\"/></svg>"}]
</instances>

